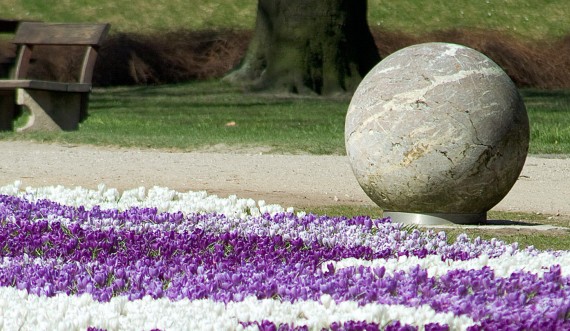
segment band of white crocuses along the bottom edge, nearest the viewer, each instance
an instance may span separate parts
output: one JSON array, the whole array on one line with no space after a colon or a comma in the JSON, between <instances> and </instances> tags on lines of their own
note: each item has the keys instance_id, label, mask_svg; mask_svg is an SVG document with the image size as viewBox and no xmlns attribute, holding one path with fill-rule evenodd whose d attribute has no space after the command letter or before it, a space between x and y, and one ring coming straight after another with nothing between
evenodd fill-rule
<instances>
[{"instance_id":1,"label":"band of white crocuses along the bottom edge, nearest the viewer","mask_svg":"<svg viewBox=\"0 0 570 331\"><path fill-rule=\"evenodd\" d=\"M399 320L417 325L449 325L464 330L474 321L453 313L438 313L427 305L406 307L356 302L336 303L329 295L320 301L280 302L247 297L227 304L209 299L170 301L151 299L128 301L114 297L94 301L89 295L38 297L14 288L0 288L0 329L3 330L239 330L239 322L268 320L275 324L306 325L310 330L328 328L333 322L367 321L386 325Z\"/></svg>"}]
</instances>

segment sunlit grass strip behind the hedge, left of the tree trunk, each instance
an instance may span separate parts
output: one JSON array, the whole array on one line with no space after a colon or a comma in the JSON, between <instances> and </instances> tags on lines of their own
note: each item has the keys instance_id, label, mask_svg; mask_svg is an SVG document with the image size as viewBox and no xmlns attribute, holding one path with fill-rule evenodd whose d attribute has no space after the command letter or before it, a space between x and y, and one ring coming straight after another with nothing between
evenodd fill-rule
<instances>
[{"instance_id":1,"label":"sunlit grass strip behind the hedge, left of the tree trunk","mask_svg":"<svg viewBox=\"0 0 570 331\"><path fill-rule=\"evenodd\" d=\"M152 32L179 28L251 28L256 2L251 0L64 1L4 0L3 17L53 22L108 22L112 31Z\"/></svg>"}]
</instances>

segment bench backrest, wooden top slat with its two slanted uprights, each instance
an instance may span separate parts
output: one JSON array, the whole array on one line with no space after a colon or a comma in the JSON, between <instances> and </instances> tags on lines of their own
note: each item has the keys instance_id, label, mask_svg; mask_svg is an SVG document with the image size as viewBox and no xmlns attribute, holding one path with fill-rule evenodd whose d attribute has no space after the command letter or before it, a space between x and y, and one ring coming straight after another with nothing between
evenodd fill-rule
<instances>
[{"instance_id":1,"label":"bench backrest, wooden top slat with its two slanted uprights","mask_svg":"<svg viewBox=\"0 0 570 331\"><path fill-rule=\"evenodd\" d=\"M13 43L18 45L15 79L26 77L36 45L83 46L79 83L91 83L97 50L109 32L110 24L22 22Z\"/></svg>"}]
</instances>

